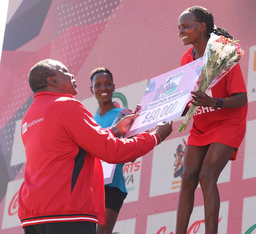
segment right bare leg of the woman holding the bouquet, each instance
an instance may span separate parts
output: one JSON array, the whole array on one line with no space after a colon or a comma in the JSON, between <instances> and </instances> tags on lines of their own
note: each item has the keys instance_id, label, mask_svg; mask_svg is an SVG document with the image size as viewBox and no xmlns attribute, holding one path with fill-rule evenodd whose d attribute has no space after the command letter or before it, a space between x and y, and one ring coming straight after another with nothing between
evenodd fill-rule
<instances>
[{"instance_id":1,"label":"right bare leg of the woman holding the bouquet","mask_svg":"<svg viewBox=\"0 0 256 234\"><path fill-rule=\"evenodd\" d=\"M218 232L220 195L217 181L234 151L235 148L231 146L212 143L205 155L199 174L199 182L204 196L206 234L217 234Z\"/></svg>"}]
</instances>

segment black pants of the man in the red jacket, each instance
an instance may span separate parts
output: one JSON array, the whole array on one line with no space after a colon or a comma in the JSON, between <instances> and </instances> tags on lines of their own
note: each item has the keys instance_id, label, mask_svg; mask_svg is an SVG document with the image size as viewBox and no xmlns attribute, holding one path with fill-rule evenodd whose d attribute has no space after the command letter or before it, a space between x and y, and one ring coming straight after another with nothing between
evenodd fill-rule
<instances>
[{"instance_id":1,"label":"black pants of the man in the red jacket","mask_svg":"<svg viewBox=\"0 0 256 234\"><path fill-rule=\"evenodd\" d=\"M24 227L25 234L96 234L94 222L48 222Z\"/></svg>"}]
</instances>

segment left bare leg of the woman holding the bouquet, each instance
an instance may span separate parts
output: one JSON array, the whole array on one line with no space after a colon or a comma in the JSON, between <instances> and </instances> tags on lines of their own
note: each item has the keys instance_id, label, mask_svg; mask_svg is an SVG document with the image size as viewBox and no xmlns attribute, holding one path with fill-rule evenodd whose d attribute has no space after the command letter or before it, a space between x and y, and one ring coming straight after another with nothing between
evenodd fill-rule
<instances>
[{"instance_id":1,"label":"left bare leg of the woman holding the bouquet","mask_svg":"<svg viewBox=\"0 0 256 234\"><path fill-rule=\"evenodd\" d=\"M187 145L183 161L180 196L177 206L176 234L186 234L193 211L198 176L209 145Z\"/></svg>"}]
</instances>

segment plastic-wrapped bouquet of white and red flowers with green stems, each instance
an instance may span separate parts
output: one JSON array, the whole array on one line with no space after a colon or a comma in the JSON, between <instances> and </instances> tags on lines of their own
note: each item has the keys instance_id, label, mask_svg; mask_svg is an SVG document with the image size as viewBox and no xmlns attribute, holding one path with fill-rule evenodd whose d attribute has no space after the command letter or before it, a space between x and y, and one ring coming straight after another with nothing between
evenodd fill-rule
<instances>
[{"instance_id":1,"label":"plastic-wrapped bouquet of white and red flowers with green stems","mask_svg":"<svg viewBox=\"0 0 256 234\"><path fill-rule=\"evenodd\" d=\"M211 33L203 56L203 68L194 91L207 92L225 76L243 56L244 51L238 41ZM178 128L184 132L189 120L196 112L198 106L191 105L185 118Z\"/></svg>"}]
</instances>

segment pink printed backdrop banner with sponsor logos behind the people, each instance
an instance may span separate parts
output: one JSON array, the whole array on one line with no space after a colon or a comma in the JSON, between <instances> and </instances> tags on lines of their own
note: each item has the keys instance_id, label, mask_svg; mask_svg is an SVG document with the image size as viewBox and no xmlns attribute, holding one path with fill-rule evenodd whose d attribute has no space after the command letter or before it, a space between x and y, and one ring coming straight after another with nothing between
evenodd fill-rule
<instances>
[{"instance_id":1,"label":"pink printed backdrop banner with sponsor logos behind the people","mask_svg":"<svg viewBox=\"0 0 256 234\"><path fill-rule=\"evenodd\" d=\"M149 79L180 67L190 45L183 46L178 37L178 18L193 5L208 8L215 25L226 28L245 49L240 66L248 90L247 129L236 161L228 162L218 180L218 233L256 233L254 0L224 1L218 6L210 0L178 4L171 0L19 0L9 4L0 63L0 234L24 233L17 216L17 192L26 164L21 120L33 102L30 68L42 59L60 60L75 75L76 98L95 114L98 103L90 92L90 74L96 67L107 67L116 86L116 106L133 110ZM173 129L181 122L182 118L176 119ZM113 234L174 233L191 125L192 121L184 133L173 132L147 155L124 165L128 195ZM188 234L204 233L203 205L198 186Z\"/></svg>"}]
</instances>

